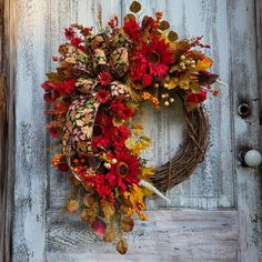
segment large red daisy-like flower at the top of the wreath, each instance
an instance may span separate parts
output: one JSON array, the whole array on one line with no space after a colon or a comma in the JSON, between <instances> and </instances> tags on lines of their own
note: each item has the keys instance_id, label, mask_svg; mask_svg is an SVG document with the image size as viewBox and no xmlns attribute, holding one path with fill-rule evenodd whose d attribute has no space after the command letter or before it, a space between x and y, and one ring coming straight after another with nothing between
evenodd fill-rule
<instances>
[{"instance_id":1,"label":"large red daisy-like flower at the top of the wreath","mask_svg":"<svg viewBox=\"0 0 262 262\"><path fill-rule=\"evenodd\" d=\"M174 61L173 52L164 40L159 40L155 36L150 43L143 42L141 50L140 68L154 77L167 74L169 64Z\"/></svg>"}]
</instances>

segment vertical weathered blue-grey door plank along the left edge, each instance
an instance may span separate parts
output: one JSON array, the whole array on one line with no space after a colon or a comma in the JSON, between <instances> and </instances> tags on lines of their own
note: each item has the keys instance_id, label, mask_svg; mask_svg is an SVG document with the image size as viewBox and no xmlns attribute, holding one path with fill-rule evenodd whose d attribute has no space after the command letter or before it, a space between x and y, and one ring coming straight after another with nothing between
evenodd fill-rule
<instances>
[{"instance_id":1,"label":"vertical weathered blue-grey door plank along the left edge","mask_svg":"<svg viewBox=\"0 0 262 262\"><path fill-rule=\"evenodd\" d=\"M44 255L47 132L40 83L44 80L47 1L16 1L18 56L16 93L16 188L12 261Z\"/></svg>"}]
</instances>

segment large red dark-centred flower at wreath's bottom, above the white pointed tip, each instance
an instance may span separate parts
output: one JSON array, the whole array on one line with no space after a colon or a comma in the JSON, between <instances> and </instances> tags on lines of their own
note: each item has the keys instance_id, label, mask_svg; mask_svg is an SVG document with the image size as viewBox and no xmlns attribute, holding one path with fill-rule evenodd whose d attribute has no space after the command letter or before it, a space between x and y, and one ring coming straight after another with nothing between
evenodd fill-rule
<instances>
[{"instance_id":1,"label":"large red dark-centred flower at wreath's bottom, above the white pointed tip","mask_svg":"<svg viewBox=\"0 0 262 262\"><path fill-rule=\"evenodd\" d=\"M111 187L117 187L123 192L127 185L139 183L140 162L138 155L130 154L128 150L117 151L115 159L118 162L111 167L105 175Z\"/></svg>"}]
</instances>

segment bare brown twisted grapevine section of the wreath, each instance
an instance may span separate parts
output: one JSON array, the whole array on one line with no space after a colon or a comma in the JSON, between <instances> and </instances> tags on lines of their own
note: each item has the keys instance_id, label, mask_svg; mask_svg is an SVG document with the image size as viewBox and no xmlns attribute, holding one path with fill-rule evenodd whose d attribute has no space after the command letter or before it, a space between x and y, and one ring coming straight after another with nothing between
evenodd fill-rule
<instances>
[{"instance_id":1,"label":"bare brown twisted grapevine section of the wreath","mask_svg":"<svg viewBox=\"0 0 262 262\"><path fill-rule=\"evenodd\" d=\"M175 155L165 164L154 169L151 181L160 191L167 192L188 179L196 165L204 160L209 144L209 120L203 105L185 111L187 138Z\"/></svg>"}]
</instances>

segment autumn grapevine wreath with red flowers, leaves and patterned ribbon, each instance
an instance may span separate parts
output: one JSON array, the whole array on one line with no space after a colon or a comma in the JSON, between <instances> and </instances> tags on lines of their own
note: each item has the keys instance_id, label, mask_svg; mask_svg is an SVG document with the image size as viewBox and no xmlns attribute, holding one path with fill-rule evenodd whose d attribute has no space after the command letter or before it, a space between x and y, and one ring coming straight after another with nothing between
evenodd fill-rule
<instances>
[{"instance_id":1,"label":"autumn grapevine wreath with red flowers, leaves and patterned ribbon","mask_svg":"<svg viewBox=\"0 0 262 262\"><path fill-rule=\"evenodd\" d=\"M107 28L72 24L59 47L56 72L47 73L47 129L59 151L52 164L72 184L66 210L79 212L94 233L128 250L124 233L134 226L137 213L145 220L144 198L164 198L204 158L209 123L202 102L218 75L208 71L212 60L201 49L202 37L178 40L163 13L139 19L141 4L119 27L113 17ZM151 144L143 131L143 104L155 110L181 99L188 124L179 152L159 168L149 167L141 153ZM54 147L56 148L56 147Z\"/></svg>"}]
</instances>

